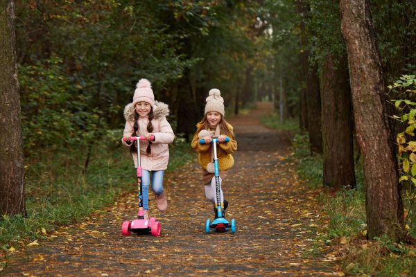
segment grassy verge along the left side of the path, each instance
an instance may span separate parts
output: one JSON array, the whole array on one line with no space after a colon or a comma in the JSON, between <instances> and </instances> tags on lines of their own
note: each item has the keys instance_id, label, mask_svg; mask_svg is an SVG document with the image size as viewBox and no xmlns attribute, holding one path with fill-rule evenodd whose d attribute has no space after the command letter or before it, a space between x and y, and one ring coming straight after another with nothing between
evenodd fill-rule
<instances>
[{"instance_id":1,"label":"grassy verge along the left side of the path","mask_svg":"<svg viewBox=\"0 0 416 277\"><path fill-rule=\"evenodd\" d=\"M113 133L117 136L121 132ZM128 150L120 145L118 136L105 141L109 143L93 145L85 175L83 153L87 150L44 153L36 160L25 161L28 216L3 216L0 219L3 253L10 247L17 249L28 241L42 239L59 226L78 222L93 211L114 203L121 193L135 189L131 186L132 158ZM170 154L166 171L173 171L194 157L189 143L183 139L177 139L171 145Z\"/></svg>"}]
</instances>

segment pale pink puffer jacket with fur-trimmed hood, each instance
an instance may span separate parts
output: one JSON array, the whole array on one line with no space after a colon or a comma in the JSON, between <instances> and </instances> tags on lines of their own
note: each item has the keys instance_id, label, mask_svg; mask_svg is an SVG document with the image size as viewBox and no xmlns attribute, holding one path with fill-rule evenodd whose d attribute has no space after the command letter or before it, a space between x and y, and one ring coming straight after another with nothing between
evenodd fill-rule
<instances>
[{"instance_id":1,"label":"pale pink puffer jacket with fur-trimmed hood","mask_svg":"<svg viewBox=\"0 0 416 277\"><path fill-rule=\"evenodd\" d=\"M166 120L166 116L169 114L168 105L163 102L155 102L155 108L153 109L154 118L152 120L153 132L155 135L155 141L150 145L150 154L146 153L148 147L148 141L140 141L140 157L141 168L148 171L166 170L169 161L169 147L168 143L172 143L175 139L175 134L171 125ZM135 124L135 108L132 103L128 104L124 108L125 127L123 136L132 136L134 131L133 125ZM144 136L147 134L148 118L139 118L139 130L137 135ZM123 140L121 140L123 141ZM128 146L125 141L123 145ZM137 153L133 153L133 160L137 167Z\"/></svg>"}]
</instances>

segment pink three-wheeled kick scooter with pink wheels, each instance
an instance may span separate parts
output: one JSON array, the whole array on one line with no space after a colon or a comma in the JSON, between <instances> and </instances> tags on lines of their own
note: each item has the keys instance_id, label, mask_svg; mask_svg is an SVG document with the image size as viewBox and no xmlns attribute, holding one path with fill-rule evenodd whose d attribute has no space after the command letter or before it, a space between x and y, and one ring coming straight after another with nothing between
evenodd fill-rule
<instances>
[{"instance_id":1,"label":"pink three-wheeled kick scooter with pink wheels","mask_svg":"<svg viewBox=\"0 0 416 277\"><path fill-rule=\"evenodd\" d=\"M154 140L155 137L151 136L150 140ZM144 218L143 213L143 198L141 195L141 164L140 164L140 141L146 141L145 136L132 136L130 139L123 141L136 141L137 142L137 190L139 191L139 213L137 220L125 221L121 226L121 233L123 235L130 235L133 233L148 234L158 236L160 235L160 222L156 221L155 217L150 217L148 220Z\"/></svg>"}]
</instances>

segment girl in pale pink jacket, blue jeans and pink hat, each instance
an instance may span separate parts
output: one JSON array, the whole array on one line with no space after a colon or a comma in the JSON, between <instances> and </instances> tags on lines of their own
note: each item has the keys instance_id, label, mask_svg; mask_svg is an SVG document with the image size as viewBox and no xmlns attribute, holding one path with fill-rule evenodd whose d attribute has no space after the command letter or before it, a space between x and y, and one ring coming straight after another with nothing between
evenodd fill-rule
<instances>
[{"instance_id":1,"label":"girl in pale pink jacket, blue jeans and pink hat","mask_svg":"<svg viewBox=\"0 0 416 277\"><path fill-rule=\"evenodd\" d=\"M146 79L137 83L137 89L133 96L133 102L125 106L125 127L123 137L130 139L131 136L154 136L153 141L140 142L140 157L142 171L142 201L144 217L148 218L148 192L150 178L152 190L155 193L156 205L159 211L166 211L168 202L163 190L164 170L168 167L169 148L168 143L175 139L171 125L166 120L169 114L168 105L155 101L152 85ZM123 141L125 146L130 147L133 161L137 167L137 149L134 143Z\"/></svg>"}]
</instances>

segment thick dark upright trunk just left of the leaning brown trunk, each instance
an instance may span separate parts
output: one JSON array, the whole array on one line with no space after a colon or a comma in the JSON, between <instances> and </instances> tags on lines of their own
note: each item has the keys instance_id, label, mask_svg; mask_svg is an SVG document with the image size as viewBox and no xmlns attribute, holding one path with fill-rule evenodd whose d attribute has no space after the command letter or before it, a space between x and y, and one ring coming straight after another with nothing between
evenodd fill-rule
<instances>
[{"instance_id":1,"label":"thick dark upright trunk just left of the leaning brown trunk","mask_svg":"<svg viewBox=\"0 0 416 277\"><path fill-rule=\"evenodd\" d=\"M324 184L331 190L355 188L351 89L347 56L335 66L331 56L322 68L322 144Z\"/></svg>"}]
</instances>

